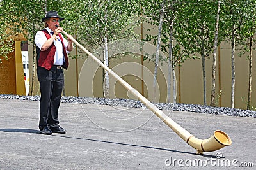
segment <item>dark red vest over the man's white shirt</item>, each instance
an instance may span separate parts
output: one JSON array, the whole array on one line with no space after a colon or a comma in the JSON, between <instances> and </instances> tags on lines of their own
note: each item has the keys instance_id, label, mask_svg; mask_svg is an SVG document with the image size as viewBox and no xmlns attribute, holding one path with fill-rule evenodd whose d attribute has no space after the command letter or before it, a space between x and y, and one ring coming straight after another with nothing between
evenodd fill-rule
<instances>
[{"instance_id":1,"label":"dark red vest over the man's white shirt","mask_svg":"<svg viewBox=\"0 0 256 170\"><path fill-rule=\"evenodd\" d=\"M49 34L49 32L46 29L43 29L42 31L44 32L47 39L51 38L51 35ZM61 67L63 67L64 69L68 69L67 52L66 52L61 34L59 34L59 37L60 37L62 47L63 47L63 55L65 57L65 62ZM53 65L53 62L54 62L55 51L56 51L56 47L55 47L54 43L52 43L52 45L47 50L40 51L40 55L39 55L39 59L38 59L38 66L44 67L45 69L50 70Z\"/></svg>"}]
</instances>

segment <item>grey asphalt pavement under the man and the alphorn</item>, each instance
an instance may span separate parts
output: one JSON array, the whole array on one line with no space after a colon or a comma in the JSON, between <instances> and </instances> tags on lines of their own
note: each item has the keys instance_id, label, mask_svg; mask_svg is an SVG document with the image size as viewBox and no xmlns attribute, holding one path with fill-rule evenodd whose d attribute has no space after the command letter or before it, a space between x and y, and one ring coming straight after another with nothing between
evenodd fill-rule
<instances>
[{"instance_id":1,"label":"grey asphalt pavement under the man and the alphorn","mask_svg":"<svg viewBox=\"0 0 256 170\"><path fill-rule=\"evenodd\" d=\"M256 167L255 118L164 111L197 138L220 129L232 139L231 146L196 155L147 109L61 103L60 125L67 134L45 136L38 131L38 106L38 101L0 99L0 169Z\"/></svg>"}]
</instances>

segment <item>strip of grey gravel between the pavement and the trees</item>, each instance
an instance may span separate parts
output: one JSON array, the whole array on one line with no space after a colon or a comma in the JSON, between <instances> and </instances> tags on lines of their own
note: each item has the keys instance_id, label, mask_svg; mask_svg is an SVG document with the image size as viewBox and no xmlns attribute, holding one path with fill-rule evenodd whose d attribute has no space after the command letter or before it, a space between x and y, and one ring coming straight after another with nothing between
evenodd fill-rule
<instances>
[{"instance_id":1,"label":"strip of grey gravel between the pavement and the trees","mask_svg":"<svg viewBox=\"0 0 256 170\"><path fill-rule=\"evenodd\" d=\"M19 95L5 95L0 94L0 99L19 99L28 101L40 101L40 96L19 96ZM111 106L124 106L129 108L147 108L141 101L131 99L105 99L105 98L92 98L92 97L61 97L63 103L83 103L83 104L99 104ZM237 117L253 117L256 118L256 111L232 109L227 107L211 107L197 104L173 104L173 103L154 103L160 110L173 110L173 111L189 111L196 113L207 113L214 115L228 115Z\"/></svg>"}]
</instances>

